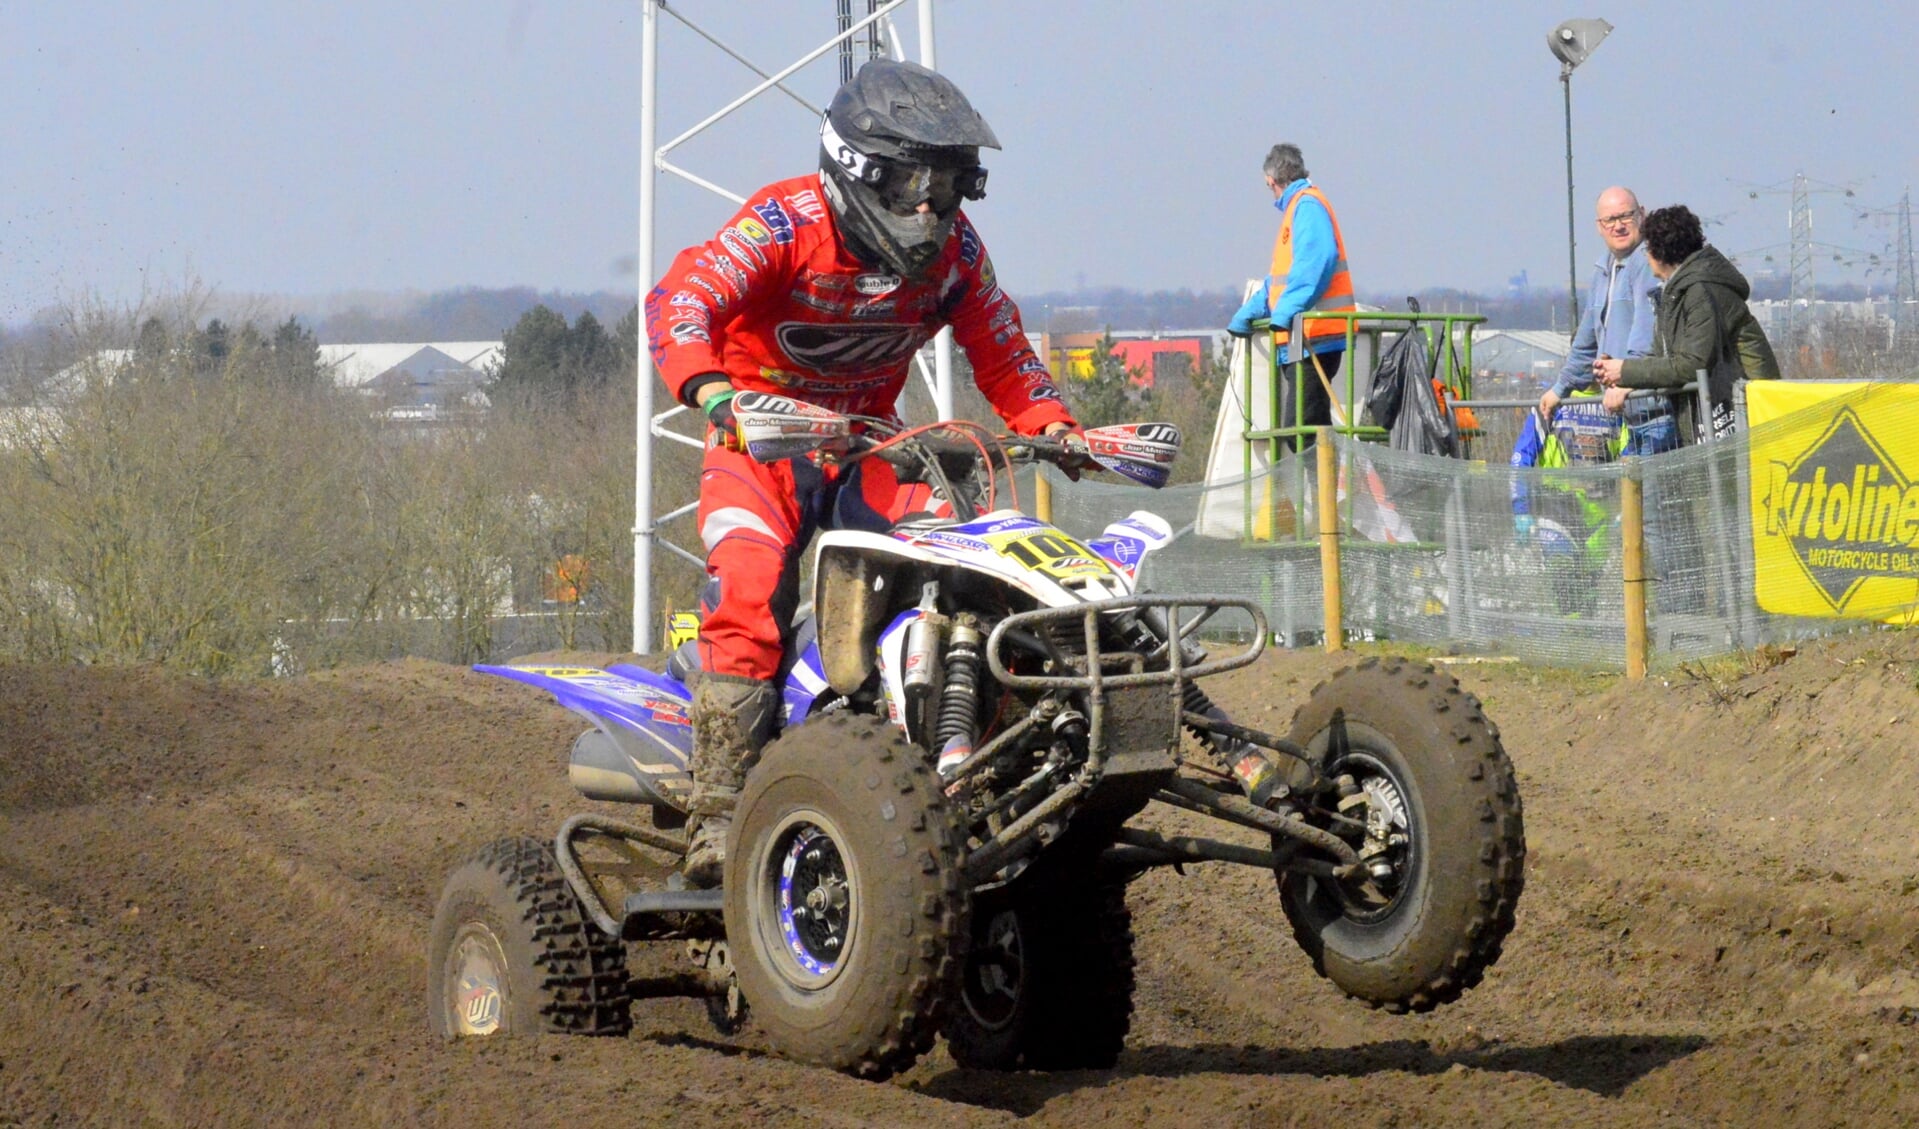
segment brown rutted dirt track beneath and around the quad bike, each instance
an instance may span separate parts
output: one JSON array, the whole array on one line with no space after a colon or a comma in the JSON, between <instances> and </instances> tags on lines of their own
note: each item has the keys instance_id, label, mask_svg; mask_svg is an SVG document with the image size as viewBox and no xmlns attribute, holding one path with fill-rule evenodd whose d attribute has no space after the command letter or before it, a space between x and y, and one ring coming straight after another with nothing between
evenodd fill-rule
<instances>
[{"instance_id":1,"label":"brown rutted dirt track beneath and around the quad bike","mask_svg":"<svg viewBox=\"0 0 1919 1129\"><path fill-rule=\"evenodd\" d=\"M1338 662L1215 697L1265 728ZM1455 668L1531 845L1487 981L1432 1016L1343 1000L1270 879L1132 887L1115 1071L935 1050L885 1085L710 1035L447 1045L424 1018L441 876L578 810L578 724L399 662L276 684L0 666L0 1125L1913 1125L1919 634L1643 685Z\"/></svg>"}]
</instances>

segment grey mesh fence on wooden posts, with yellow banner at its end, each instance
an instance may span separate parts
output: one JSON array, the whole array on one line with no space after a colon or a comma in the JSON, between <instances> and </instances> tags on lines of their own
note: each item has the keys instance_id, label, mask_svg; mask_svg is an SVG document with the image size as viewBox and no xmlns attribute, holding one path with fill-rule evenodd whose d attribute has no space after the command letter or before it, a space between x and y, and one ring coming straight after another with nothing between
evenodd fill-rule
<instances>
[{"instance_id":1,"label":"grey mesh fence on wooden posts, with yellow banner at its end","mask_svg":"<svg viewBox=\"0 0 1919 1129\"><path fill-rule=\"evenodd\" d=\"M1888 411L1875 388L1884 386L1714 444L1593 468L1512 468L1485 442L1474 451L1483 461L1464 461L1336 438L1345 634L1623 666L1622 480L1629 470L1643 482L1654 664L1911 618L1919 484L1907 478L1919 478L1919 467L1902 470L1886 449L1919 449L1919 397ZM1835 419L1875 396L1877 422L1854 442ZM1497 411L1480 415L1487 434L1516 430L1487 419ZM1858 451L1840 451L1848 461L1835 463L1833 482L1821 488L1815 463L1836 459L1833 451L1848 442ZM1324 637L1315 463L1309 447L1267 474L1161 492L1054 478L1052 516L1090 538L1136 509L1157 513L1178 538L1148 561L1148 588L1253 599L1276 641L1309 645ZM1850 482L1854 472L1858 482ZM1514 522L1516 488L1529 497L1529 524ZM1848 488L1858 497L1840 505ZM1787 507L1792 497L1796 511ZM1808 507L1823 511L1808 516ZM1783 528L1787 520L1812 534L1790 543L1775 538L1787 547L1756 559L1754 522ZM1775 614L1756 597L1756 589L1777 593L1785 582L1808 588L1808 580L1825 599L1821 614Z\"/></svg>"}]
</instances>

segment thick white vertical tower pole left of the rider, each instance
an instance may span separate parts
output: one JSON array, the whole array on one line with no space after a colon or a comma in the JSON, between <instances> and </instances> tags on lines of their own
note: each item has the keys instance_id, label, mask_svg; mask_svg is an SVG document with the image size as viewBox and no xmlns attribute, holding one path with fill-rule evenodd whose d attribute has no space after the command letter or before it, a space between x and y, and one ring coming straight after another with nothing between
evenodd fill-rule
<instances>
[{"instance_id":1,"label":"thick white vertical tower pole left of the rider","mask_svg":"<svg viewBox=\"0 0 1919 1129\"><path fill-rule=\"evenodd\" d=\"M647 301L652 286L652 207L658 188L658 115L660 115L660 0L641 0L639 35L639 301ZM633 405L633 653L652 651L652 353L647 349L645 309L641 309L639 348L635 349L637 396Z\"/></svg>"}]
</instances>

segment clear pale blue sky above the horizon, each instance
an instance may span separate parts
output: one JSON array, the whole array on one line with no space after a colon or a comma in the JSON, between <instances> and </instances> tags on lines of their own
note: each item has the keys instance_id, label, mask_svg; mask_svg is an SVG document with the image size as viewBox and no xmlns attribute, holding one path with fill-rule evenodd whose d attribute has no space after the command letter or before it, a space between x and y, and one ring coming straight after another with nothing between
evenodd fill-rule
<instances>
[{"instance_id":1,"label":"clear pale blue sky above the horizon","mask_svg":"<svg viewBox=\"0 0 1919 1129\"><path fill-rule=\"evenodd\" d=\"M827 0L675 0L775 69L833 33ZM864 4L856 0L856 8ZM0 323L198 278L225 294L462 284L635 290L637 0L0 6ZM898 23L917 58L915 6ZM1259 161L1303 146L1362 292L1564 286L1566 163L1547 31L1604 17L1574 75L1579 263L1610 182L1714 219L1729 252L1787 240L1804 171L1815 236L1894 238L1854 207L1919 179L1911 15L1604 0L1280 6L944 0L940 69L998 131L969 207L1015 294L1236 286L1274 213ZM660 136L754 79L662 17ZM823 104L831 56L793 84ZM674 161L748 192L816 165L816 121L773 96ZM660 259L731 205L662 179ZM1777 255L1785 267L1785 252ZM1890 259L1888 259L1890 263ZM1754 261L1754 269L1764 263ZM1825 253L1817 276L1860 278ZM1890 286L1888 275L1873 280Z\"/></svg>"}]
</instances>

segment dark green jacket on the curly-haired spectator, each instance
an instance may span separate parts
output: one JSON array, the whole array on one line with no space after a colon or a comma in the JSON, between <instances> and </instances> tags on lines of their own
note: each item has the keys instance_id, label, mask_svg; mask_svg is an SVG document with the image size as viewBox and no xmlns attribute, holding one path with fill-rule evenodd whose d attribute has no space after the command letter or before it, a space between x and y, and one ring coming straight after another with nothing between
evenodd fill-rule
<instances>
[{"instance_id":1,"label":"dark green jacket on the curly-haired spectator","mask_svg":"<svg viewBox=\"0 0 1919 1129\"><path fill-rule=\"evenodd\" d=\"M1654 355L1620 365L1620 384L1677 388L1689 384L1700 369L1710 372L1721 355L1737 357L1739 374L1746 380L1777 380L1773 346L1746 309L1750 294L1746 276L1718 248L1706 246L1687 255L1660 288ZM1733 348L1721 353L1721 342L1731 342ZM1714 401L1721 399L1719 392L1714 388ZM1731 382L1725 382L1723 399L1731 399Z\"/></svg>"}]
</instances>

